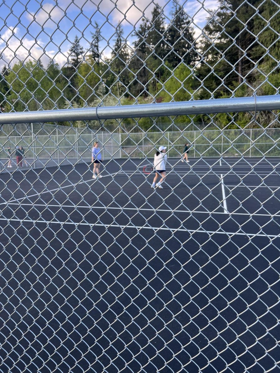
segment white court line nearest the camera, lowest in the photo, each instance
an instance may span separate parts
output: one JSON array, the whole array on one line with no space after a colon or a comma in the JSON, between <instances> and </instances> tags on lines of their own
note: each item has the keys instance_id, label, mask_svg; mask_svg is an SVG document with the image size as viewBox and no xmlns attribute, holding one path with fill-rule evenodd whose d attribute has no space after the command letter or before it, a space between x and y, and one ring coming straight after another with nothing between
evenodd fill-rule
<instances>
[{"instance_id":1,"label":"white court line nearest the camera, lowest in the photo","mask_svg":"<svg viewBox=\"0 0 280 373\"><path fill-rule=\"evenodd\" d=\"M141 230L141 229L153 229L155 232L156 231L170 231L170 232L189 232L189 233L215 233L215 234L226 234L226 235L230 235L230 236L234 236L234 235L241 235L241 236L249 236L251 238L254 238L254 237L273 237L273 238L280 238L280 234L279 235L266 235L266 234L258 234L258 233L240 233L240 232L220 232L220 231L203 231L203 229L201 230L198 230L198 229L187 229L187 228L162 228L162 227L143 227L143 226L136 226L136 225L118 225L118 224L96 224L96 223L74 223L74 222L53 222L53 221L49 221L49 220L31 220L31 219L24 219L24 220L21 220L21 219L4 219L4 218L0 218L0 220L5 220L7 223L13 221L13 222L28 222L28 223L44 223L44 224L60 224L60 225L75 225L75 226L79 226L79 225L86 225L86 226L90 226L90 227L95 227L95 226L100 226L100 227L103 227L103 228L121 228L121 229L125 229L125 228L132 228L132 229L137 229L137 230ZM30 233L29 233L30 234Z\"/></svg>"}]
</instances>

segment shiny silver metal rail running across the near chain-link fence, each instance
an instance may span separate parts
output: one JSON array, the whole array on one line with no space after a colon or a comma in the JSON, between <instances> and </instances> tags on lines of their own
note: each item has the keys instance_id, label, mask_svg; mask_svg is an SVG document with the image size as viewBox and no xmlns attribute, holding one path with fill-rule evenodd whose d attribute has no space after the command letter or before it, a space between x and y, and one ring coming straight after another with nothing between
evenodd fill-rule
<instances>
[{"instance_id":1,"label":"shiny silver metal rail running across the near chain-link fence","mask_svg":"<svg viewBox=\"0 0 280 373\"><path fill-rule=\"evenodd\" d=\"M1 113L0 125L6 123L121 119L277 109L280 109L280 95L268 95L258 97L234 97L169 103Z\"/></svg>"}]
</instances>

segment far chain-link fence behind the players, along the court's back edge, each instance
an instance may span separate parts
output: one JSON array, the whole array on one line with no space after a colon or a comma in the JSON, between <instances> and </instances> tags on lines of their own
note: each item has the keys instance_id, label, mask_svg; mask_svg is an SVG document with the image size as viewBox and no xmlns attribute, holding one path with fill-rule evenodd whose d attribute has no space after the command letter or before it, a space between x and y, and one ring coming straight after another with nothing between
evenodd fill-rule
<instances>
[{"instance_id":1,"label":"far chain-link fence behind the players, along the court's back edge","mask_svg":"<svg viewBox=\"0 0 280 373\"><path fill-rule=\"evenodd\" d=\"M17 128L18 126L18 128ZM10 132L9 132L10 131ZM32 132L33 131L33 132ZM8 133L9 134L8 134ZM167 146L168 157L181 156L188 143L189 157L277 157L280 152L280 129L235 129L203 130L182 132L115 133L94 132L89 128L67 126L12 125L3 126L0 145L0 167L7 170L12 150L12 170L16 168L15 151L22 146L25 150L27 167L41 168L66 166L77 162L91 162L91 148L99 141L102 159L153 158L155 149Z\"/></svg>"}]
</instances>

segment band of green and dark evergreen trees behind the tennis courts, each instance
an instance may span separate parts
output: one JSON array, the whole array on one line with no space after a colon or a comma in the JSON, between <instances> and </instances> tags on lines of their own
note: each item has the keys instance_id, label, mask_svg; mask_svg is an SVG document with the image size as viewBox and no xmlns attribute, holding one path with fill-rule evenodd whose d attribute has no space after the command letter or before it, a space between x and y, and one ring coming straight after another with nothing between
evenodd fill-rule
<instances>
[{"instance_id":1,"label":"band of green and dark evergreen trees behind the tennis courts","mask_svg":"<svg viewBox=\"0 0 280 373\"><path fill-rule=\"evenodd\" d=\"M143 19L135 31L132 47L122 26L116 28L109 58L100 51L102 35L95 22L87 53L76 36L62 68L53 60L46 68L40 60L4 66L0 106L8 112L278 93L279 6L271 0L219 1L199 42L182 6L174 3L165 25L163 10L156 5L151 20ZM215 118L221 127L228 125L226 114ZM240 113L234 121L245 126L248 118ZM193 120L207 124L212 117ZM139 124L148 126L150 119Z\"/></svg>"}]
</instances>

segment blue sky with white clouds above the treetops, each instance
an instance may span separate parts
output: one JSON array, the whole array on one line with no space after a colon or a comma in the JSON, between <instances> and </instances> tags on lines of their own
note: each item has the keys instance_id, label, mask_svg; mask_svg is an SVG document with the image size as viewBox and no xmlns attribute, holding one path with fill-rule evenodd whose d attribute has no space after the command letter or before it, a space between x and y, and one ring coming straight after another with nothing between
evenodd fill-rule
<instances>
[{"instance_id":1,"label":"blue sky with white clouds above the treetops","mask_svg":"<svg viewBox=\"0 0 280 373\"><path fill-rule=\"evenodd\" d=\"M60 66L67 62L75 35L88 50L94 22L100 27L102 55L109 57L115 40L116 26L121 23L127 44L133 45L133 31L143 15L151 18L155 3L170 19L172 1L158 0L21 0L0 5L0 67L13 66L18 60L40 59L44 66L53 59ZM192 20L199 38L206 18L218 8L218 0L180 1ZM31 57L30 57L31 56Z\"/></svg>"}]
</instances>

